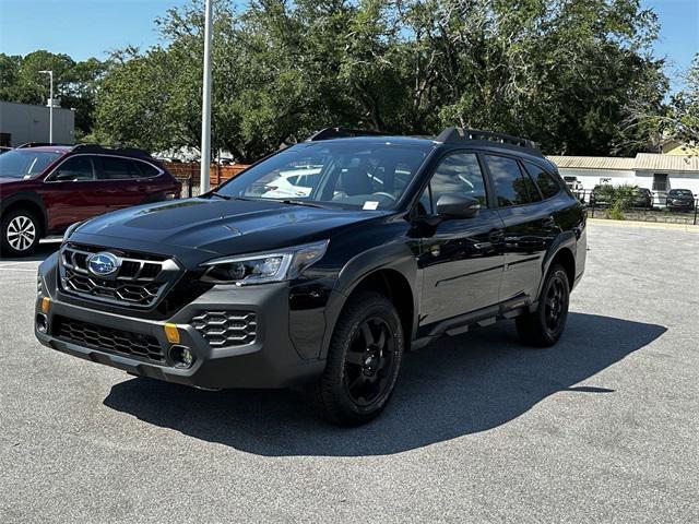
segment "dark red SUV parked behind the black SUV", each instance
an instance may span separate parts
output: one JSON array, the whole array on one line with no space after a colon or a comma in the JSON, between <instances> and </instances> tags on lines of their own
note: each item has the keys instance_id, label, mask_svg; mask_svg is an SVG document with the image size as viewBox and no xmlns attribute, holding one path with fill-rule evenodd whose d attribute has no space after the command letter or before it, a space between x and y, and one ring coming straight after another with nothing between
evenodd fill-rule
<instances>
[{"instance_id":1,"label":"dark red SUV parked behind the black SUV","mask_svg":"<svg viewBox=\"0 0 699 524\"><path fill-rule=\"evenodd\" d=\"M178 199L181 184L140 150L25 144L0 155L3 254L28 254L39 238L122 207Z\"/></svg>"}]
</instances>

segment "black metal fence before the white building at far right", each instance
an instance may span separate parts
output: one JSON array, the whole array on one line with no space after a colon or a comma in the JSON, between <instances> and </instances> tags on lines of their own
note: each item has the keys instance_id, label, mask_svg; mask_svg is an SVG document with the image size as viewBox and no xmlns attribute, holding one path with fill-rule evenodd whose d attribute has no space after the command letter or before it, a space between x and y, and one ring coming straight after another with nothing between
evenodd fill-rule
<instances>
[{"instance_id":1,"label":"black metal fence before the white building at far right","mask_svg":"<svg viewBox=\"0 0 699 524\"><path fill-rule=\"evenodd\" d=\"M652 191L650 199L639 195L615 210L613 202L605 201L603 193L589 189L572 190L572 193L588 206L588 216L591 218L612 218L620 212L624 218L630 221L691 224L695 226L699 224L699 198L697 195L686 204L678 204L673 202L674 199L668 199L665 192Z\"/></svg>"}]
</instances>

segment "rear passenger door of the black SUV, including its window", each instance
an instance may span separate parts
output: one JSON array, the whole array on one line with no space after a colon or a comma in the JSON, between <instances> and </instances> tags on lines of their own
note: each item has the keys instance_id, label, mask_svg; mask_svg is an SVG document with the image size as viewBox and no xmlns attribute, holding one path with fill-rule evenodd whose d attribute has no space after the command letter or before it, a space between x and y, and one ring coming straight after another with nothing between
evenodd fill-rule
<instances>
[{"instance_id":1,"label":"rear passenger door of the black SUV, including its window","mask_svg":"<svg viewBox=\"0 0 699 524\"><path fill-rule=\"evenodd\" d=\"M535 300L544 257L557 231L552 204L544 201L517 158L499 154L485 154L484 158L505 225L500 301Z\"/></svg>"}]
</instances>

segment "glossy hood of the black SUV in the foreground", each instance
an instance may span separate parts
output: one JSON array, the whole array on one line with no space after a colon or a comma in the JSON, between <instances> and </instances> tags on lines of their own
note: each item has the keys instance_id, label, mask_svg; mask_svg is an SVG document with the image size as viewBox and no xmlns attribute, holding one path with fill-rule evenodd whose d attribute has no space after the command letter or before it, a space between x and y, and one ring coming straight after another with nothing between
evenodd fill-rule
<instances>
[{"instance_id":1,"label":"glossy hood of the black SUV in the foreground","mask_svg":"<svg viewBox=\"0 0 699 524\"><path fill-rule=\"evenodd\" d=\"M327 238L341 227L388 214L288 205L275 201L188 199L109 213L81 225L75 242L168 253L167 247L229 255Z\"/></svg>"}]
</instances>

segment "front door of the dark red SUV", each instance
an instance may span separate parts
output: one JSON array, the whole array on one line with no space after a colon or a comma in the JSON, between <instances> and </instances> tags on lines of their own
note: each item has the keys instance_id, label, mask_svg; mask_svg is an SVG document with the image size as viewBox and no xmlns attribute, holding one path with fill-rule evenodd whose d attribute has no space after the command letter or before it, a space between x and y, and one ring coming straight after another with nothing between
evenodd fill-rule
<instances>
[{"instance_id":1,"label":"front door of the dark red SUV","mask_svg":"<svg viewBox=\"0 0 699 524\"><path fill-rule=\"evenodd\" d=\"M73 155L59 164L45 179L45 200L51 229L60 229L90 218L102 211L94 157Z\"/></svg>"}]
</instances>

